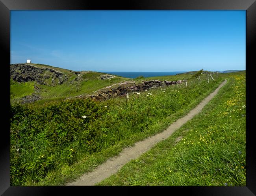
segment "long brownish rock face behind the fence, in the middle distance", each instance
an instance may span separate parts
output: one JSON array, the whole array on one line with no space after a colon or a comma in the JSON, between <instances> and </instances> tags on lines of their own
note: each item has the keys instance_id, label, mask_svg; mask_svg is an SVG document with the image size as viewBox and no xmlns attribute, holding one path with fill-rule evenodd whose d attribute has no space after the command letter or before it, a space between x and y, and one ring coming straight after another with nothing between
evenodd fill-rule
<instances>
[{"instance_id":1,"label":"long brownish rock face behind the fence, in the middle distance","mask_svg":"<svg viewBox=\"0 0 256 196\"><path fill-rule=\"evenodd\" d=\"M96 100L106 100L114 96L126 95L126 93L131 93L134 91L136 92L145 91L154 87L175 85L175 84L180 84L182 82L185 82L185 80L178 80L178 81L150 80L150 81L145 81L143 83L139 83L137 85L132 85L132 86L119 86L117 88L101 91L96 94L89 95L87 97L96 99ZM78 97L83 98L83 96L78 96Z\"/></svg>"}]
</instances>

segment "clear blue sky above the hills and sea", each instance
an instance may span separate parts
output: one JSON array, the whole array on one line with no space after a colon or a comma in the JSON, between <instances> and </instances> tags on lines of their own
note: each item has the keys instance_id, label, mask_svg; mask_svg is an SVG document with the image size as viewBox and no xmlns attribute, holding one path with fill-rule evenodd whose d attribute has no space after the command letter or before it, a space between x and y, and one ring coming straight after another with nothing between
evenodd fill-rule
<instances>
[{"instance_id":1,"label":"clear blue sky above the hills and sea","mask_svg":"<svg viewBox=\"0 0 256 196\"><path fill-rule=\"evenodd\" d=\"M13 11L10 63L74 71L242 70L246 11Z\"/></svg>"}]
</instances>

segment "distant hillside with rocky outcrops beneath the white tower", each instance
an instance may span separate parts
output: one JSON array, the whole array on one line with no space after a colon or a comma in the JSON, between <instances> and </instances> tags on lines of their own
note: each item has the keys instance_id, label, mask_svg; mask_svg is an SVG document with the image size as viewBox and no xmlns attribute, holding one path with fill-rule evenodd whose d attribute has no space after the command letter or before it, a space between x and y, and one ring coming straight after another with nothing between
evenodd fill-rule
<instances>
[{"instance_id":1,"label":"distant hillside with rocky outcrops beneath the white tower","mask_svg":"<svg viewBox=\"0 0 256 196\"><path fill-rule=\"evenodd\" d=\"M43 64L10 65L11 102L60 100L92 93L103 87L128 80L94 71L72 71Z\"/></svg>"}]
</instances>

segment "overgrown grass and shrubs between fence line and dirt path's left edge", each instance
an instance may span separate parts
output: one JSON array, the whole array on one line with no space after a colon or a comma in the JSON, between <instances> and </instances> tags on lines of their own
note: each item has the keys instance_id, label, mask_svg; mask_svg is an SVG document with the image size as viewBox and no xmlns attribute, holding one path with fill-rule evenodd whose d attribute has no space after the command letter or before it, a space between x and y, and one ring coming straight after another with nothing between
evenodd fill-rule
<instances>
[{"instance_id":1,"label":"overgrown grass and shrubs between fence line and dirt path's left edge","mask_svg":"<svg viewBox=\"0 0 256 196\"><path fill-rule=\"evenodd\" d=\"M63 185L124 147L163 131L223 78L205 76L96 102L60 100L10 106L11 185ZM86 116L86 117L85 117Z\"/></svg>"}]
</instances>

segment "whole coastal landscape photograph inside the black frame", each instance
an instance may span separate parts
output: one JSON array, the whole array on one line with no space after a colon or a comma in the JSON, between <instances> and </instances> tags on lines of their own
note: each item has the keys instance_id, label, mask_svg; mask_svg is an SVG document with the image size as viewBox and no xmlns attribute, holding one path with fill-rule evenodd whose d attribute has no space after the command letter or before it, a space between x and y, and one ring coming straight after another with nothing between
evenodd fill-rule
<instances>
[{"instance_id":1,"label":"whole coastal landscape photograph inside the black frame","mask_svg":"<svg viewBox=\"0 0 256 196\"><path fill-rule=\"evenodd\" d=\"M246 10L10 10L10 186L247 186Z\"/></svg>"}]
</instances>

